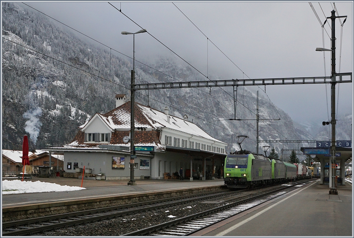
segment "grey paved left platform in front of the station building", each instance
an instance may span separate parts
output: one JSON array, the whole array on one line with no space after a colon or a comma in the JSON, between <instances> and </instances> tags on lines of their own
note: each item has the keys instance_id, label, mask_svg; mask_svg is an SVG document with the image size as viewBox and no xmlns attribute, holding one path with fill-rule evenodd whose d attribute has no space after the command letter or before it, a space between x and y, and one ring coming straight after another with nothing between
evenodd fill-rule
<instances>
[{"instance_id":1,"label":"grey paved left platform in front of the station building","mask_svg":"<svg viewBox=\"0 0 354 238\"><path fill-rule=\"evenodd\" d=\"M5 177L2 180L13 180ZM18 179L22 180L22 179ZM41 181L56 183L59 185L81 187L81 179L76 178L37 178L26 179L25 181ZM136 180L137 185L128 186L129 180L87 180L84 179L82 187L86 189L80 191L67 192L43 192L43 193L21 193L2 195L2 207L21 206L47 202L63 202L76 199L98 198L105 196L119 196L126 194L136 194L144 192L157 192L178 188L204 187L210 185L223 185L222 179L215 180Z\"/></svg>"}]
</instances>

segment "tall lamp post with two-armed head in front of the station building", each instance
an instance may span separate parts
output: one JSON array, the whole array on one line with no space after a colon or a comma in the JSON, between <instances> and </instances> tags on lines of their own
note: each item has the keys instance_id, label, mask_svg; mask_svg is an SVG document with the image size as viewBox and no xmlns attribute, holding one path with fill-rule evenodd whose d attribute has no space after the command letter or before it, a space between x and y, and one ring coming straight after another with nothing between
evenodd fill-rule
<instances>
[{"instance_id":1,"label":"tall lamp post with two-armed head in front of the station building","mask_svg":"<svg viewBox=\"0 0 354 238\"><path fill-rule=\"evenodd\" d=\"M139 30L136 33L122 32L122 35L133 35L133 70L131 70L131 84L130 84L130 181L128 185L136 185L134 180L134 159L136 158L134 151L134 105L135 105L135 34L147 32L146 29Z\"/></svg>"}]
</instances>

